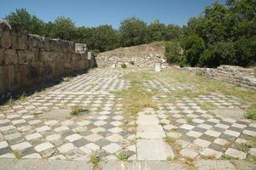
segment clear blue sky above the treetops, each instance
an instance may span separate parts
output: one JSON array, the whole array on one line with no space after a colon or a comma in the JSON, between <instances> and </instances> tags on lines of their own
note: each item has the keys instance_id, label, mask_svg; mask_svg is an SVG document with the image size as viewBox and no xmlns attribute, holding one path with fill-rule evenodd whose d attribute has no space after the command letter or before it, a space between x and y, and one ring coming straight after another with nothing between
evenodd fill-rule
<instances>
[{"instance_id":1,"label":"clear blue sky above the treetops","mask_svg":"<svg viewBox=\"0 0 256 170\"><path fill-rule=\"evenodd\" d=\"M198 16L206 5L216 0L0 0L0 18L15 8L26 8L44 21L58 16L71 18L76 26L119 27L121 20L136 16L150 22L160 20L165 24L186 25L190 17ZM224 0L218 0L224 3Z\"/></svg>"}]
</instances>

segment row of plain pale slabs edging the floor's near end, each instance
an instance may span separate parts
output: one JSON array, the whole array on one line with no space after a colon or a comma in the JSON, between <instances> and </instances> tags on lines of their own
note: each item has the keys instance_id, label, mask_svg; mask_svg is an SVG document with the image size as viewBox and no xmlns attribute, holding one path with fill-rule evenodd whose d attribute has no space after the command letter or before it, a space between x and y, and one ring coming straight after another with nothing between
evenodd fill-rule
<instances>
[{"instance_id":1,"label":"row of plain pale slabs edging the floor's near end","mask_svg":"<svg viewBox=\"0 0 256 170\"><path fill-rule=\"evenodd\" d=\"M91 163L85 161L40 160L40 159L0 159L0 170L93 170ZM201 160L195 161L195 169L199 170L251 170L253 163L247 161ZM108 161L98 169L102 170L184 170L190 167L172 161Z\"/></svg>"}]
</instances>

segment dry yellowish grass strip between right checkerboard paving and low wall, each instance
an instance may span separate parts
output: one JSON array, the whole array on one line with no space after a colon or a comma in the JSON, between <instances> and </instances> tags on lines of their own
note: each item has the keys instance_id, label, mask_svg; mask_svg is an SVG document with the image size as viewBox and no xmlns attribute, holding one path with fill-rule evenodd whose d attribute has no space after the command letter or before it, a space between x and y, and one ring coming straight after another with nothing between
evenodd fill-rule
<instances>
[{"instance_id":1,"label":"dry yellowish grass strip between right checkerboard paving and low wall","mask_svg":"<svg viewBox=\"0 0 256 170\"><path fill-rule=\"evenodd\" d=\"M252 89L241 88L236 85L231 85L230 83L224 82L224 80L215 80L209 77L196 75L193 72L178 71L176 69L161 71L157 75L154 75L154 78L156 77L158 79L165 78L166 80L170 79L176 80L177 82L195 84L195 88L192 90L184 89L166 93L166 95L172 96L172 99L169 99L171 101L175 101L183 97L189 97L190 99L193 99L199 95L209 95L212 93L234 96L240 100L241 104L250 105L245 116L248 119L256 120L256 92ZM217 106L203 104L202 107L207 110L212 110L216 109Z\"/></svg>"}]
</instances>

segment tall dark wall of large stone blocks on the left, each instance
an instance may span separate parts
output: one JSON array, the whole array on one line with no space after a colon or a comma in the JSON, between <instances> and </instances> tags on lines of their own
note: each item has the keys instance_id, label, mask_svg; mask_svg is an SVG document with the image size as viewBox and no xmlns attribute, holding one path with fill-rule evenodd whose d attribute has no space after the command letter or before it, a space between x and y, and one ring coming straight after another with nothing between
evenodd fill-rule
<instances>
[{"instance_id":1,"label":"tall dark wall of large stone blocks on the left","mask_svg":"<svg viewBox=\"0 0 256 170\"><path fill-rule=\"evenodd\" d=\"M89 69L94 56L88 59L81 46L76 51L74 42L27 34L0 21L0 94Z\"/></svg>"}]
</instances>

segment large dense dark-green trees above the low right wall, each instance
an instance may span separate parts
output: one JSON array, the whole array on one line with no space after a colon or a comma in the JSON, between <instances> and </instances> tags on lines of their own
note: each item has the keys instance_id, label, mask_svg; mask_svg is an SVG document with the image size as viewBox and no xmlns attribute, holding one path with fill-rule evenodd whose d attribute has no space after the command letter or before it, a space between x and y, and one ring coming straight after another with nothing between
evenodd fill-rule
<instances>
[{"instance_id":1,"label":"large dense dark-green trees above the low right wall","mask_svg":"<svg viewBox=\"0 0 256 170\"><path fill-rule=\"evenodd\" d=\"M191 66L255 65L256 3L227 0L212 3L203 16L191 18L184 30L183 49Z\"/></svg>"}]
</instances>

